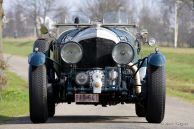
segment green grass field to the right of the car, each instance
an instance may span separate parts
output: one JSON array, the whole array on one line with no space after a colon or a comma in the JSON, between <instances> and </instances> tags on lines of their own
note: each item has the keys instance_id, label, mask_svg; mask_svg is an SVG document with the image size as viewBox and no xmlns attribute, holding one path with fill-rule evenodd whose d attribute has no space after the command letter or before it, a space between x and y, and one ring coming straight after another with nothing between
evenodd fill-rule
<instances>
[{"instance_id":1,"label":"green grass field to the right of the car","mask_svg":"<svg viewBox=\"0 0 194 129\"><path fill-rule=\"evenodd\" d=\"M159 48L166 56L167 94L194 103L194 49ZM154 48L144 47L142 55Z\"/></svg>"}]
</instances>

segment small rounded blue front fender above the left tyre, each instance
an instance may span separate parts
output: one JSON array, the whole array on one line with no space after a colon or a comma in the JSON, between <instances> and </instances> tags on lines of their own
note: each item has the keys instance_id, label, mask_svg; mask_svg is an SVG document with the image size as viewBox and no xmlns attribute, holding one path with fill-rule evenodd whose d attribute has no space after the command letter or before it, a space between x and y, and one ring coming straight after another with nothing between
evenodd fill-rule
<instances>
[{"instance_id":1,"label":"small rounded blue front fender above the left tyre","mask_svg":"<svg viewBox=\"0 0 194 129\"><path fill-rule=\"evenodd\" d=\"M32 66L41 66L46 62L46 56L42 52L33 52L28 56L28 63Z\"/></svg>"}]
</instances>

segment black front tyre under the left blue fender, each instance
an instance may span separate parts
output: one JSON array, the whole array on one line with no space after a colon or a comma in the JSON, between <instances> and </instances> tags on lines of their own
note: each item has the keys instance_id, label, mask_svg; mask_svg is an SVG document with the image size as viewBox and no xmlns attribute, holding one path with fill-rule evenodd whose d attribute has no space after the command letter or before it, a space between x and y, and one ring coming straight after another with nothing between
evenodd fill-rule
<instances>
[{"instance_id":1,"label":"black front tyre under the left blue fender","mask_svg":"<svg viewBox=\"0 0 194 129\"><path fill-rule=\"evenodd\" d=\"M48 119L47 76L45 65L29 68L30 119L44 123Z\"/></svg>"}]
</instances>

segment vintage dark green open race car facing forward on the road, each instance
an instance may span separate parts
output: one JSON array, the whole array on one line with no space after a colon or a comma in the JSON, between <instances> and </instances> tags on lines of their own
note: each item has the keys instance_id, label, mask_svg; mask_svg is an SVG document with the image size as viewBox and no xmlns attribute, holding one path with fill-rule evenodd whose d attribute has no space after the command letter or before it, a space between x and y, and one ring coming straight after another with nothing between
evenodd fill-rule
<instances>
[{"instance_id":1,"label":"vintage dark green open race car facing forward on the road","mask_svg":"<svg viewBox=\"0 0 194 129\"><path fill-rule=\"evenodd\" d=\"M165 57L156 49L140 58L141 42L153 44L135 25L57 24L56 39L37 39L29 55L30 118L46 122L55 104L134 103L136 114L160 123L165 112ZM45 29L43 29L45 30ZM44 33L47 33L45 30ZM64 109L65 110L65 109Z\"/></svg>"}]
</instances>

